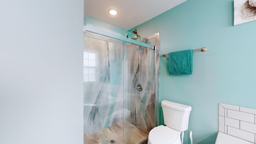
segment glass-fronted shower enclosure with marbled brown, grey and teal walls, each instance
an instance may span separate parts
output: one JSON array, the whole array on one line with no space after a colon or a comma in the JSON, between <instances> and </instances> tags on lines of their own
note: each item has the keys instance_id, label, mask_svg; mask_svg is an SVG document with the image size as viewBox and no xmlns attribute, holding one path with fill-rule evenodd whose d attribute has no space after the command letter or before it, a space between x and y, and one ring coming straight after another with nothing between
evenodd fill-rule
<instances>
[{"instance_id":1,"label":"glass-fronted shower enclosure with marbled brown, grey and teal walls","mask_svg":"<svg viewBox=\"0 0 256 144\"><path fill-rule=\"evenodd\" d=\"M146 144L159 125L159 34L141 41L84 32L84 144Z\"/></svg>"}]
</instances>

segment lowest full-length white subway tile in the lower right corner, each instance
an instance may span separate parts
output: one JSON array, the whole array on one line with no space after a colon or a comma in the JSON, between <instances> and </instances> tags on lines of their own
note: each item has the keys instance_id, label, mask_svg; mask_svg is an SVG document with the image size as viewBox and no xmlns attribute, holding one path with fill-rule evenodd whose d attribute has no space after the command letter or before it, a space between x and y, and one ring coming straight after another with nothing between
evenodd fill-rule
<instances>
[{"instance_id":1,"label":"lowest full-length white subway tile in the lower right corner","mask_svg":"<svg viewBox=\"0 0 256 144\"><path fill-rule=\"evenodd\" d=\"M255 142L255 134L251 133L251 132L246 132L244 130L239 130L237 128L232 128L230 126L228 126L228 134L241 138L243 140L248 140L250 142Z\"/></svg>"}]
</instances>

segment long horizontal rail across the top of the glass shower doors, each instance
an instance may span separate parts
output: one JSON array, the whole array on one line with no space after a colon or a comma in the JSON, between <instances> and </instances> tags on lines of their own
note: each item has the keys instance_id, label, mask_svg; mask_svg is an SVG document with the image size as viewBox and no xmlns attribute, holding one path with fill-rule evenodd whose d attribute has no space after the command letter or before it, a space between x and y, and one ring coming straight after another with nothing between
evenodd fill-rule
<instances>
[{"instance_id":1,"label":"long horizontal rail across the top of the glass shower doors","mask_svg":"<svg viewBox=\"0 0 256 144\"><path fill-rule=\"evenodd\" d=\"M84 32L86 32L86 31L94 32L96 34L101 34L101 35L108 36L110 38L115 38L118 40L123 40L125 42L130 42L132 44L137 44L139 46L144 46L146 48L150 48L150 49L154 50L154 46L150 46L150 44L146 44L146 43L140 42L138 40L133 40L131 38L126 38L125 36L122 36L121 34L118 34L116 32L101 30L100 28L96 28L96 27L88 25L88 24L86 26L84 26Z\"/></svg>"}]
</instances>

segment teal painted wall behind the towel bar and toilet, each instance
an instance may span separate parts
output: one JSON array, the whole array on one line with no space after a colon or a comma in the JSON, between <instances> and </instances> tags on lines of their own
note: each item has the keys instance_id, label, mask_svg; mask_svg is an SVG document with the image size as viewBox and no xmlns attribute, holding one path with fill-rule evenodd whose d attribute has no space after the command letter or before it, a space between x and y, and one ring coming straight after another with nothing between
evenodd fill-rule
<instances>
[{"instance_id":1,"label":"teal painted wall behind the towel bar and toilet","mask_svg":"<svg viewBox=\"0 0 256 144\"><path fill-rule=\"evenodd\" d=\"M160 32L161 54L208 48L194 52L192 75L169 75L160 58L160 101L192 106L184 144L190 131L194 144L214 144L218 103L256 108L256 21L233 26L233 6L233 0L188 0L136 27L142 37Z\"/></svg>"}]
</instances>

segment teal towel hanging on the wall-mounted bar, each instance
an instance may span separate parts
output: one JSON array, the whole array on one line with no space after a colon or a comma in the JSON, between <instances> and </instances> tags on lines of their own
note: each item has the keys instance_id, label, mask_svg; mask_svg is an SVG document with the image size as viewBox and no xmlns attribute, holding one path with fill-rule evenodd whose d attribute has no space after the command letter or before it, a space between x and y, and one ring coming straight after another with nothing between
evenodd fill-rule
<instances>
[{"instance_id":1,"label":"teal towel hanging on the wall-mounted bar","mask_svg":"<svg viewBox=\"0 0 256 144\"><path fill-rule=\"evenodd\" d=\"M169 53L169 74L192 74L193 50Z\"/></svg>"}]
</instances>

